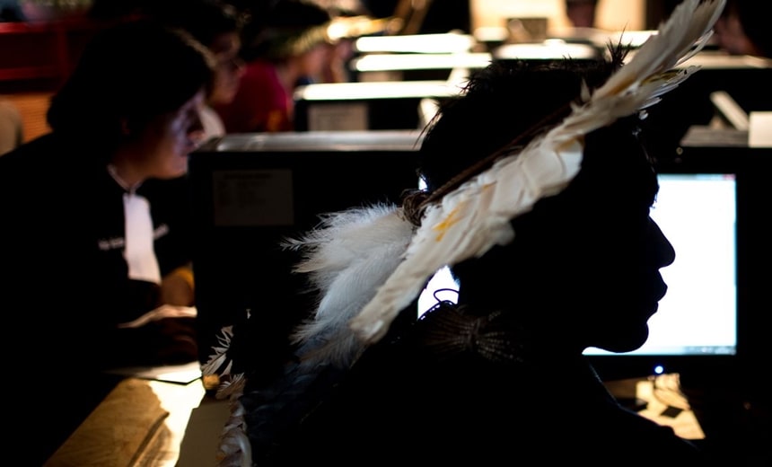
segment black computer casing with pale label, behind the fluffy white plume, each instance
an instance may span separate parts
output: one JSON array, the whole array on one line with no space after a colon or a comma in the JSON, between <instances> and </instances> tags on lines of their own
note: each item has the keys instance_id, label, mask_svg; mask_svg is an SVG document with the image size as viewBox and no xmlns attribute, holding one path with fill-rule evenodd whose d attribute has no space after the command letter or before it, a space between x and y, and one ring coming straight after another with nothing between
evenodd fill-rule
<instances>
[{"instance_id":1,"label":"black computer casing with pale label, behind the fluffy white plume","mask_svg":"<svg viewBox=\"0 0 772 467\"><path fill-rule=\"evenodd\" d=\"M320 215L398 203L416 189L417 131L230 135L190 155L200 358L224 326L243 324L232 351L251 352L267 375L290 354L288 335L315 297L281 247ZM238 371L234 369L234 371Z\"/></svg>"}]
</instances>

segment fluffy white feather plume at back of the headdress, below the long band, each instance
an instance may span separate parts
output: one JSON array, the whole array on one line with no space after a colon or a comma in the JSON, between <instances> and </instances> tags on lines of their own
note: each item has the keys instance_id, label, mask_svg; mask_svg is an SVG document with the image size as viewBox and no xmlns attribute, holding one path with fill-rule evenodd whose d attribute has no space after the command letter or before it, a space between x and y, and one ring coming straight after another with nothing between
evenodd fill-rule
<instances>
[{"instance_id":1,"label":"fluffy white feather plume at back of the headdress, below the long band","mask_svg":"<svg viewBox=\"0 0 772 467\"><path fill-rule=\"evenodd\" d=\"M319 228L285 242L303 251L295 271L308 273L321 293L313 319L294 331L294 340L303 342L304 365L347 366L363 349L348 322L404 258L414 227L401 212L386 204L355 207L329 214Z\"/></svg>"}]
</instances>

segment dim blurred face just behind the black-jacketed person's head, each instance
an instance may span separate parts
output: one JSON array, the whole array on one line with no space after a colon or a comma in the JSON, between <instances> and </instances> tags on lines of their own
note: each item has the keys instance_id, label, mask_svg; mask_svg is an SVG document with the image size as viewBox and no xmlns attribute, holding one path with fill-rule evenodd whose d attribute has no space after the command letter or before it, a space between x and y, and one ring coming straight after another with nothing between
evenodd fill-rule
<instances>
[{"instance_id":1,"label":"dim blurred face just behind the black-jacketed person's head","mask_svg":"<svg viewBox=\"0 0 772 467\"><path fill-rule=\"evenodd\" d=\"M210 102L227 104L233 101L239 90L239 81L244 73L244 66L239 57L241 40L236 32L220 34L209 47L215 54L215 85Z\"/></svg>"}]
</instances>

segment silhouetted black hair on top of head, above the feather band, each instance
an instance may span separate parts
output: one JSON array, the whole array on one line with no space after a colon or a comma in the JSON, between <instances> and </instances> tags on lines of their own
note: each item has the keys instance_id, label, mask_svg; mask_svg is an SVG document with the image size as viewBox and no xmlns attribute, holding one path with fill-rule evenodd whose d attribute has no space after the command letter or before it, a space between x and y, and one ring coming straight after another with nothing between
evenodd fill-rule
<instances>
[{"instance_id":1,"label":"silhouetted black hair on top of head, above the feather band","mask_svg":"<svg viewBox=\"0 0 772 467\"><path fill-rule=\"evenodd\" d=\"M527 145L569 113L582 83L599 87L621 66L622 48L610 60L502 60L469 77L463 93L443 101L426 128L420 175L433 192L452 179L469 179L474 167L518 137ZM492 162L488 161L488 162ZM489 164L488 164L489 165Z\"/></svg>"}]
</instances>

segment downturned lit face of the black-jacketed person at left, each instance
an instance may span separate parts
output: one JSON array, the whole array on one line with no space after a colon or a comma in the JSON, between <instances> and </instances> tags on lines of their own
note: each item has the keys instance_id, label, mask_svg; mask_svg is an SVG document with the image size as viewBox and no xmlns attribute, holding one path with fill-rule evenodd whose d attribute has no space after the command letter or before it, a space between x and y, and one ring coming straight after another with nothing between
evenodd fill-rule
<instances>
[{"instance_id":1,"label":"downturned lit face of the black-jacketed person at left","mask_svg":"<svg viewBox=\"0 0 772 467\"><path fill-rule=\"evenodd\" d=\"M133 151L145 178L170 179L188 172L188 154L205 137L199 113L205 99L202 89L180 109L159 115L142 128Z\"/></svg>"}]
</instances>

